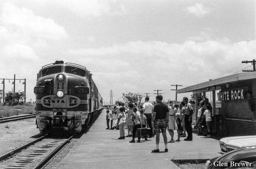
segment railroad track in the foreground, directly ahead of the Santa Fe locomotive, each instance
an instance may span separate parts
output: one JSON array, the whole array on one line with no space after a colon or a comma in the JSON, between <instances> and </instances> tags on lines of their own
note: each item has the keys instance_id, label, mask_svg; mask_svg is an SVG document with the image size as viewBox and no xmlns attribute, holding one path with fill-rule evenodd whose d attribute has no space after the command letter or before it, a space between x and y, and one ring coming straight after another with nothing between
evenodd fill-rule
<instances>
[{"instance_id":1,"label":"railroad track in the foreground, directly ahead of the Santa Fe locomotive","mask_svg":"<svg viewBox=\"0 0 256 169\"><path fill-rule=\"evenodd\" d=\"M69 138L51 138L47 134L41 136L0 156L0 168L42 168L72 139L73 135Z\"/></svg>"}]
</instances>

